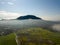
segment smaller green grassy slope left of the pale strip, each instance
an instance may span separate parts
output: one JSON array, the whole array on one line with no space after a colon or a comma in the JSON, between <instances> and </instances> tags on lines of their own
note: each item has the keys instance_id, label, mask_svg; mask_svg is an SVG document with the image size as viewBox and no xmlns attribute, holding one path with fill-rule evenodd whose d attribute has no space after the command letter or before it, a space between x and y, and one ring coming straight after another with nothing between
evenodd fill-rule
<instances>
[{"instance_id":1,"label":"smaller green grassy slope left of the pale strip","mask_svg":"<svg viewBox=\"0 0 60 45\"><path fill-rule=\"evenodd\" d=\"M17 45L15 35L12 33L7 36L0 36L0 45Z\"/></svg>"}]
</instances>

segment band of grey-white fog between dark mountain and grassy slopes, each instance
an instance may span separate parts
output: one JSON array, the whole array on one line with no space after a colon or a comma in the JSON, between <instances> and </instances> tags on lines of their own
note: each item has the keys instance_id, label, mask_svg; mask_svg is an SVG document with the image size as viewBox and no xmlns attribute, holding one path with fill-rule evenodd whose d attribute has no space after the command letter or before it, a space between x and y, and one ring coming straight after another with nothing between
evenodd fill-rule
<instances>
[{"instance_id":1,"label":"band of grey-white fog between dark mountain and grassy slopes","mask_svg":"<svg viewBox=\"0 0 60 45\"><path fill-rule=\"evenodd\" d=\"M42 27L60 31L60 22L45 20L0 20L0 31L20 30L25 28Z\"/></svg>"}]
</instances>

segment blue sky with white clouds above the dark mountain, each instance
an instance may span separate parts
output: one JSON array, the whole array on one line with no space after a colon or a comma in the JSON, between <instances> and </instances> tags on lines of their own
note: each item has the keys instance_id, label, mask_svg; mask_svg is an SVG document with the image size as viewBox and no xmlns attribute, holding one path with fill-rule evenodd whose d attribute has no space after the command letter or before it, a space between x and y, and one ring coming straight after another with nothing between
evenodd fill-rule
<instances>
[{"instance_id":1,"label":"blue sky with white clouds above the dark mountain","mask_svg":"<svg viewBox=\"0 0 60 45\"><path fill-rule=\"evenodd\" d=\"M60 0L0 0L0 19L24 15L60 21Z\"/></svg>"}]
</instances>

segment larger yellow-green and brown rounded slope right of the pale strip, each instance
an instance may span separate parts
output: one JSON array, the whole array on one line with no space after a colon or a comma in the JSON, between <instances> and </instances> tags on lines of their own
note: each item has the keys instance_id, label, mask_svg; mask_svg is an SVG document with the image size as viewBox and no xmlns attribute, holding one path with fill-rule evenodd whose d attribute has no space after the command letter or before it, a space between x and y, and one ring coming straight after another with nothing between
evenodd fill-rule
<instances>
[{"instance_id":1,"label":"larger yellow-green and brown rounded slope right of the pale strip","mask_svg":"<svg viewBox=\"0 0 60 45\"><path fill-rule=\"evenodd\" d=\"M19 45L60 45L60 33L42 28L31 28L17 32Z\"/></svg>"}]
</instances>

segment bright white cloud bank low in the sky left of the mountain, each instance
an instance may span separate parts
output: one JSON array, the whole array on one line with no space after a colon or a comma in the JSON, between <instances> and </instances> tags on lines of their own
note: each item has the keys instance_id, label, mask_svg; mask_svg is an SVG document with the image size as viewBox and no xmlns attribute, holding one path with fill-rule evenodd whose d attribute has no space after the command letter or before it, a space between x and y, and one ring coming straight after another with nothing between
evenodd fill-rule
<instances>
[{"instance_id":1,"label":"bright white cloud bank low in the sky left of the mountain","mask_svg":"<svg viewBox=\"0 0 60 45\"><path fill-rule=\"evenodd\" d=\"M13 12L7 12L7 11L0 11L0 19L15 19L22 14L20 13L13 13Z\"/></svg>"}]
</instances>

